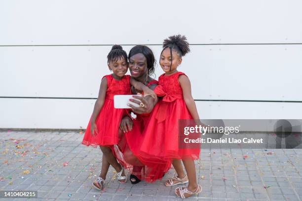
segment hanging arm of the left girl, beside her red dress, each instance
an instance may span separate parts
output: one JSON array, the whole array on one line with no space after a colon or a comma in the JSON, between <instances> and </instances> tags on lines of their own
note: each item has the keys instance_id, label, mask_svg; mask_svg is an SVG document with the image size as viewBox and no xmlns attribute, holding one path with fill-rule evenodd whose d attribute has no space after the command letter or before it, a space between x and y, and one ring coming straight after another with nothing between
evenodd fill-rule
<instances>
[{"instance_id":1,"label":"hanging arm of the left girl, beside her red dress","mask_svg":"<svg viewBox=\"0 0 302 201\"><path fill-rule=\"evenodd\" d=\"M100 113L100 110L103 107L105 97L106 97L106 90L107 90L107 78L104 77L101 81L99 96L98 96L98 99L95 101L93 112L91 115L91 120L90 120L90 132L93 136L94 136L94 130L96 131L96 134L98 134L98 129L96 127L95 121L96 121L97 116Z\"/></svg>"}]
</instances>

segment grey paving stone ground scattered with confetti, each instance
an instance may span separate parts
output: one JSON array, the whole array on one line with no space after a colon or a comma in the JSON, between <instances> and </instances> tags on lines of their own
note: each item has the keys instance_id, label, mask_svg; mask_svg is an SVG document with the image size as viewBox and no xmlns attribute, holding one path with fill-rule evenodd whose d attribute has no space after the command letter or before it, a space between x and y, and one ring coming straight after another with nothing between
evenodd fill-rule
<instances>
[{"instance_id":1,"label":"grey paving stone ground scattered with confetti","mask_svg":"<svg viewBox=\"0 0 302 201\"><path fill-rule=\"evenodd\" d=\"M104 190L92 188L102 153L82 145L82 137L75 131L0 131L0 190L38 191L38 199L16 201L181 200L176 187L164 186L173 169L161 181L132 185L118 183L111 167ZM302 149L201 149L200 154L196 171L203 191L188 201L302 201Z\"/></svg>"}]
</instances>

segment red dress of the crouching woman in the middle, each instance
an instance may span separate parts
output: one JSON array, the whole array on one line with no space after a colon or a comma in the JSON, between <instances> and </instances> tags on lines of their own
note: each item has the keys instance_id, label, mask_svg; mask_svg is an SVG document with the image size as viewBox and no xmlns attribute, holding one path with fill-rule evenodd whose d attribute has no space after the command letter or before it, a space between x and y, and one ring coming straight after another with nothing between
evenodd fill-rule
<instances>
[{"instance_id":1,"label":"red dress of the crouching woman in the middle","mask_svg":"<svg viewBox=\"0 0 302 201\"><path fill-rule=\"evenodd\" d=\"M158 82L157 80L152 80L147 86L149 87L151 84L158 84ZM164 173L170 169L171 162L160 159L140 161L136 157L140 144L144 140L143 133L149 120L150 114L136 114L136 118L132 119L132 130L120 138L118 143L119 149L115 147L113 153L118 162L123 164L124 167L133 167L132 174L136 175L139 179L154 182L157 179L161 179ZM140 171L139 175L138 170Z\"/></svg>"}]
</instances>

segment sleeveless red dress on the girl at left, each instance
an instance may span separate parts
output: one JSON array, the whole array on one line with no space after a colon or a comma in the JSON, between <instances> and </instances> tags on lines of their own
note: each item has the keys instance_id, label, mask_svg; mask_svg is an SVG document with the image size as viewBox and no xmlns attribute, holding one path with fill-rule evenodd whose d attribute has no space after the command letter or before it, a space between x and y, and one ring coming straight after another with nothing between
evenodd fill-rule
<instances>
[{"instance_id":1,"label":"sleeveless red dress on the girl at left","mask_svg":"<svg viewBox=\"0 0 302 201\"><path fill-rule=\"evenodd\" d=\"M124 75L120 80L114 79L112 74L104 77L107 78L106 97L95 121L99 133L95 136L91 135L90 118L82 141L82 144L87 146L110 146L118 143L118 127L124 109L114 108L113 96L130 94L130 75Z\"/></svg>"}]
</instances>

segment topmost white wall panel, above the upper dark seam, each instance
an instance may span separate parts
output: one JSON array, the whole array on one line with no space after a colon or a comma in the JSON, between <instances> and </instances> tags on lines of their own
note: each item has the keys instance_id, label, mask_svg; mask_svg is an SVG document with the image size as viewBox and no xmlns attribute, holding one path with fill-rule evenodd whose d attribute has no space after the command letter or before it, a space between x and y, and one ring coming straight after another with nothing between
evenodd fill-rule
<instances>
[{"instance_id":1,"label":"topmost white wall panel, above the upper dark seam","mask_svg":"<svg viewBox=\"0 0 302 201\"><path fill-rule=\"evenodd\" d=\"M0 0L0 44L301 42L301 0Z\"/></svg>"}]
</instances>

